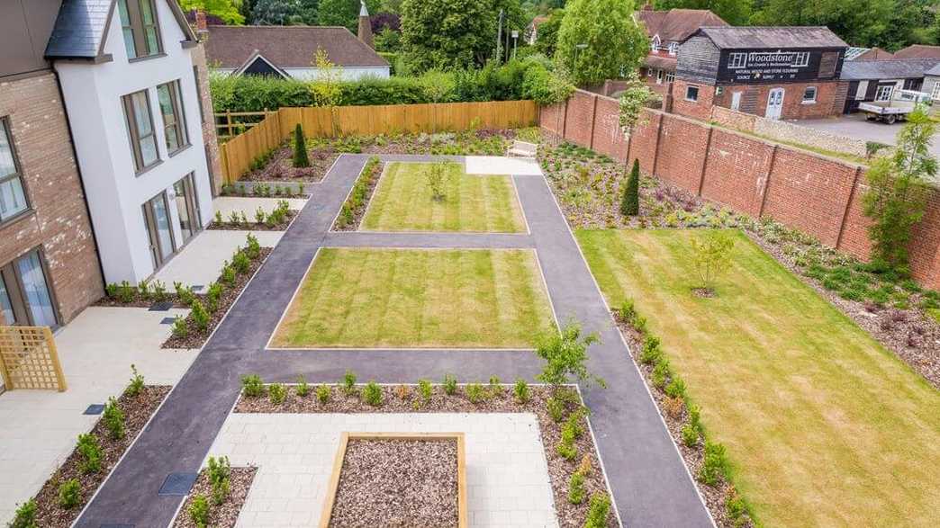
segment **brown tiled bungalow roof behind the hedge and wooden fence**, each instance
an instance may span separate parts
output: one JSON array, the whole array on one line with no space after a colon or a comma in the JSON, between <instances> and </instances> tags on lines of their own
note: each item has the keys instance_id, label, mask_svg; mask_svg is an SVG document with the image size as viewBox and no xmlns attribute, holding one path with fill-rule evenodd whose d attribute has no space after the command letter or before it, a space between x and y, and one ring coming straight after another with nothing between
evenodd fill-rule
<instances>
[{"instance_id":1,"label":"brown tiled bungalow roof behind the hedge and wooden fence","mask_svg":"<svg viewBox=\"0 0 940 528\"><path fill-rule=\"evenodd\" d=\"M322 25L210 25L206 57L239 68L257 51L278 68L310 68L318 48L337 66L388 66L349 29Z\"/></svg>"}]
</instances>

